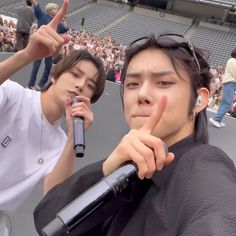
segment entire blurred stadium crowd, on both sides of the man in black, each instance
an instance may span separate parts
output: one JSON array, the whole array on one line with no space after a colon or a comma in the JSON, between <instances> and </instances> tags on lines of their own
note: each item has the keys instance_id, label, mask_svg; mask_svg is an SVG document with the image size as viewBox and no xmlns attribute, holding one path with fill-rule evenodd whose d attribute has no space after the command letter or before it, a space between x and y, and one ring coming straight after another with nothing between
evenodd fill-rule
<instances>
[{"instance_id":1,"label":"entire blurred stadium crowd, on both sides of the man in black","mask_svg":"<svg viewBox=\"0 0 236 236\"><path fill-rule=\"evenodd\" d=\"M37 25L33 24L31 34L36 30ZM15 52L15 31L16 24L14 21L3 19L0 16L0 52ZM68 44L64 45L60 54L54 58L54 64L72 50L87 49L90 53L103 60L107 79L113 82L120 82L120 73L124 61L124 51L126 49L125 45L115 42L111 36L97 37L87 32L86 28L80 32L70 29L68 33L71 39ZM222 77L224 75L224 69L223 66L212 68L213 80L209 100L209 108L211 109L217 109L222 99ZM236 117L236 96L229 115Z\"/></svg>"}]
</instances>

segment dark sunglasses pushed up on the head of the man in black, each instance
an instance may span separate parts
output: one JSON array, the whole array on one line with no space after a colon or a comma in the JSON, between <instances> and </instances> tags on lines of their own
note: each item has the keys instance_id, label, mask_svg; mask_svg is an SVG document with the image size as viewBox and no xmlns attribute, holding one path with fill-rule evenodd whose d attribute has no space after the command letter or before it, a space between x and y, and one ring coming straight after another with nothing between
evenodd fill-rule
<instances>
[{"instance_id":1,"label":"dark sunglasses pushed up on the head of the man in black","mask_svg":"<svg viewBox=\"0 0 236 236\"><path fill-rule=\"evenodd\" d=\"M150 37L141 37L139 39L136 39L132 43L130 43L129 48L134 48L137 45L141 46L145 44L149 39ZM193 59L198 67L198 70L200 71L201 69L200 64L194 51L193 45L186 37L180 34L161 34L156 37L156 41L161 47L166 47L166 48L184 47L185 49L187 49L193 56Z\"/></svg>"}]
</instances>

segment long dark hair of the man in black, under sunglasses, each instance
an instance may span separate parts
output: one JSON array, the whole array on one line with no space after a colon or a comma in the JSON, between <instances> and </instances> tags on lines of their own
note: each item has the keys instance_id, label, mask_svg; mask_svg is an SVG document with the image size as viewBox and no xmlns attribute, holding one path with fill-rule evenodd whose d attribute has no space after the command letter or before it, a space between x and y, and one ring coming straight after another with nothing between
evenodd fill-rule
<instances>
[{"instance_id":1,"label":"long dark hair of the man in black, under sunglasses","mask_svg":"<svg viewBox=\"0 0 236 236\"><path fill-rule=\"evenodd\" d=\"M178 72L178 68L180 67L185 70L190 77L192 92L189 104L189 115L191 115L198 96L197 90L202 87L210 90L210 81L212 79L212 74L210 72L210 66L207 62L206 53L205 51L199 48L193 47L196 59L198 60L200 66L199 68L193 58L193 55L191 55L191 52L186 45L179 43L176 44L174 47L167 46L166 44L162 44L161 40L158 40L158 37L161 36L162 35L155 37L154 35L151 35L147 37L143 43L136 44L135 46L129 47L126 50L125 63L121 73L121 83L124 84L128 65L136 54L150 48L160 49L170 57L172 65L180 78L181 75ZM121 86L122 102L123 92L123 86ZM207 129L206 109L199 112L196 116L194 134L196 141L208 143L209 138Z\"/></svg>"}]
</instances>

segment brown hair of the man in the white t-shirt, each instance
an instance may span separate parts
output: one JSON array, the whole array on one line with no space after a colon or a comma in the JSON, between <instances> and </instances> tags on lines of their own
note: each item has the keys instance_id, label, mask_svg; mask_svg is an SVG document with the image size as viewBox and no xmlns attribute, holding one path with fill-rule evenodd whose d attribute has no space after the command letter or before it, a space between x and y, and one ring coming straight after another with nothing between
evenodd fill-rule
<instances>
[{"instance_id":1,"label":"brown hair of the man in the white t-shirt","mask_svg":"<svg viewBox=\"0 0 236 236\"><path fill-rule=\"evenodd\" d=\"M82 61L82 60L92 62L98 70L96 89L95 89L95 92L91 98L91 103L95 103L99 99L99 97L102 95L104 88L105 88L105 82L106 82L104 65L103 65L103 62L100 58L93 56L91 53L89 53L86 50L73 50L70 54L68 54L63 59L61 59L53 67L53 69L51 71L51 76L54 76L55 79L57 80L62 73L70 70L79 61ZM48 88L51 85L52 85L52 82L49 81L42 88L41 92L45 92L46 90L48 90Z\"/></svg>"}]
</instances>

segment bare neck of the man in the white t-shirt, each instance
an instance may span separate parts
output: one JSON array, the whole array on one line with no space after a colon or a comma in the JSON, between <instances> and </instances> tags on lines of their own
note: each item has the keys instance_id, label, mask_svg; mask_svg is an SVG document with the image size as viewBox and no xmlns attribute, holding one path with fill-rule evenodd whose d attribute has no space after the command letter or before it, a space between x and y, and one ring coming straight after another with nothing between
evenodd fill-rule
<instances>
[{"instance_id":1,"label":"bare neck of the man in the white t-shirt","mask_svg":"<svg viewBox=\"0 0 236 236\"><path fill-rule=\"evenodd\" d=\"M49 123L54 124L56 120L61 118L65 113L62 106L58 104L54 94L52 93L52 86L45 92L41 93L41 107L43 115L46 117Z\"/></svg>"}]
</instances>

